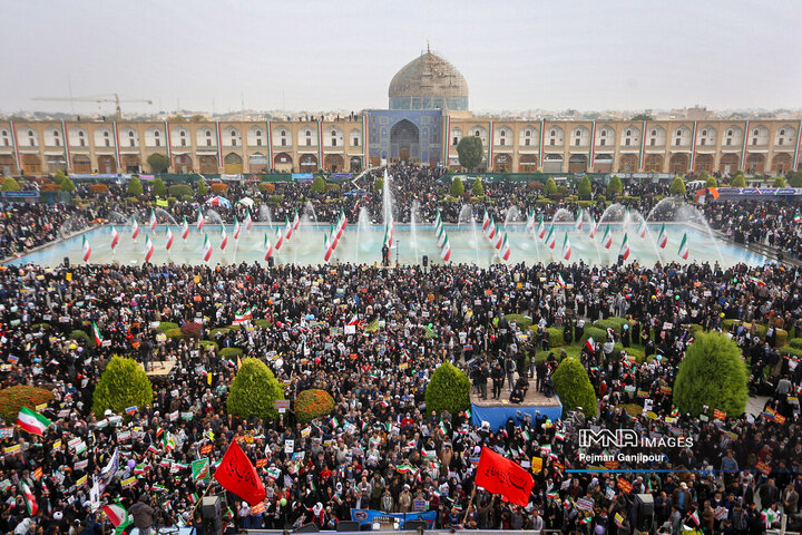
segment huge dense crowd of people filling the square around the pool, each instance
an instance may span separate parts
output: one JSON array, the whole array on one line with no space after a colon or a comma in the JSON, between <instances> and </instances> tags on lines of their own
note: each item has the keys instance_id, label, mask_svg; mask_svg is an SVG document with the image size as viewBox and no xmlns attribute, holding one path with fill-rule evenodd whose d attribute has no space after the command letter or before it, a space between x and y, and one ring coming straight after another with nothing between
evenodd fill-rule
<instances>
[{"instance_id":1,"label":"huge dense crowd of people filling the square around the pool","mask_svg":"<svg viewBox=\"0 0 802 535\"><path fill-rule=\"evenodd\" d=\"M409 213L418 201L421 217L433 217L442 192L432 172L403 173L408 176L395 187L409 195L397 195L399 213ZM496 187L526 185L487 186ZM359 207L380 214L376 195L345 198L354 205L362 198ZM638 203L649 203L646 198ZM521 197L522 213L529 202ZM774 246L798 251L799 239L788 235L799 236L793 207L761 203L728 212L725 206L703 208L714 227L743 228L749 240L769 244L773 235ZM126 205L110 203L109 208L87 208L96 211L88 214L19 207L28 230L21 233L13 213L7 213L3 252L23 251L41 243L25 240L58 234L66 218L102 220L107 214L100 211L111 207ZM645 213L649 205L639 210ZM321 208L317 216L325 213ZM239 329L213 333L248 308L253 318ZM346 333L354 315L359 330ZM580 352L598 399L597 416L579 410L552 421L519 415L493 429L476 425L468 412L427 410L429 379L443 362L471 378L477 397L492 393L499 403L515 406L521 387L550 395L550 374L565 357L564 347L584 341L593 322L610 317L626 318L626 328L606 330L604 340ZM531 329L520 318L531 320ZM158 331L162 322L200 323L199 338L217 346L165 337ZM90 332L92 323L106 343L76 335ZM550 339L554 328L563 333L561 344ZM723 419L676 412L671 387L696 329L723 330L739 343L750 366L750 387L765 399L762 410ZM234 441L260 467L267 496L253 506L212 485L209 494L225 497L224 517L233 528L292 529L314 523L331 529L351 521L352 509L375 509L433 512L432 527L438 528L629 535L645 531L637 495L648 494L653 525L662 533L800 531L802 367L782 347L781 330L788 338L802 333L800 270L781 264L6 266L0 270L2 388L41 387L55 399L39 408L53 421L42 437L6 421L0 531L97 533L108 519L92 509L92 475L115 450L120 469L105 488L104 503L119 502L131 510L140 531L202 529L196 505L206 484L193 480L189 467L202 456L214 465ZM636 346L643 359L622 358L622 351ZM334 410L310 424L296 421L292 411L275 420L229 415L226 400L237 367L217 348L239 348L245 357L266 362L286 399L311 388L330 392ZM154 378L149 407L94 414L95 387L114 354L133 357L146 368L154 361L175 364L167 377ZM646 401L649 411L633 410ZM577 430L584 427L682 436L693 446L666 449L657 460L598 468L580 457L600 453L579 447ZM170 447L165 436L172 437ZM482 447L532 473L527 506L483 489L475 493ZM584 469L596 471L574 471ZM651 471L622 471L627 469Z\"/></svg>"}]
</instances>

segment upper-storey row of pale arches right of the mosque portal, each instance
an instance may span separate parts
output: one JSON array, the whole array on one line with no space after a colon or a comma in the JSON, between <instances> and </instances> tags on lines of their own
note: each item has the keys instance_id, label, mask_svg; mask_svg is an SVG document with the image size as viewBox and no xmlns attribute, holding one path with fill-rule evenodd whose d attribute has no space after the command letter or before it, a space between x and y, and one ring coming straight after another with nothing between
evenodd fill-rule
<instances>
[{"instance_id":1,"label":"upper-storey row of pale arches right of the mosque portal","mask_svg":"<svg viewBox=\"0 0 802 535\"><path fill-rule=\"evenodd\" d=\"M718 143L718 132L716 128L710 125L700 126L696 129L696 146L716 146ZM591 132L588 127L580 125L570 129L567 135L568 145L571 147L589 147L591 143ZM749 146L767 146L770 140L770 130L763 125L750 126L747 133L747 145ZM451 128L451 146L457 146L460 139L464 135L477 136L481 138L482 145L488 146L488 128L482 125L476 125L467 128L466 132L461 127ZM721 145L722 146L741 146L744 140L743 128L732 125L727 126L722 133ZM619 139L616 140L616 130L607 125L596 128L596 136L594 145L596 147L616 146L618 143L622 147L639 147L640 143L640 127L630 125L620 129ZM693 132L685 125L679 125L672 128L671 132L666 130L659 125L647 125L646 126L646 143L645 146L662 147L668 145L674 147L689 147ZM499 126L493 128L493 146L516 146L515 132L508 126ZM566 143L565 130L557 126L548 126L544 132L544 146L561 147ZM776 129L774 134L775 147L779 146L794 146L796 143L796 128L791 125L784 125ZM525 126L518 133L518 146L519 147L536 147L540 145L539 128L536 126Z\"/></svg>"}]
</instances>

